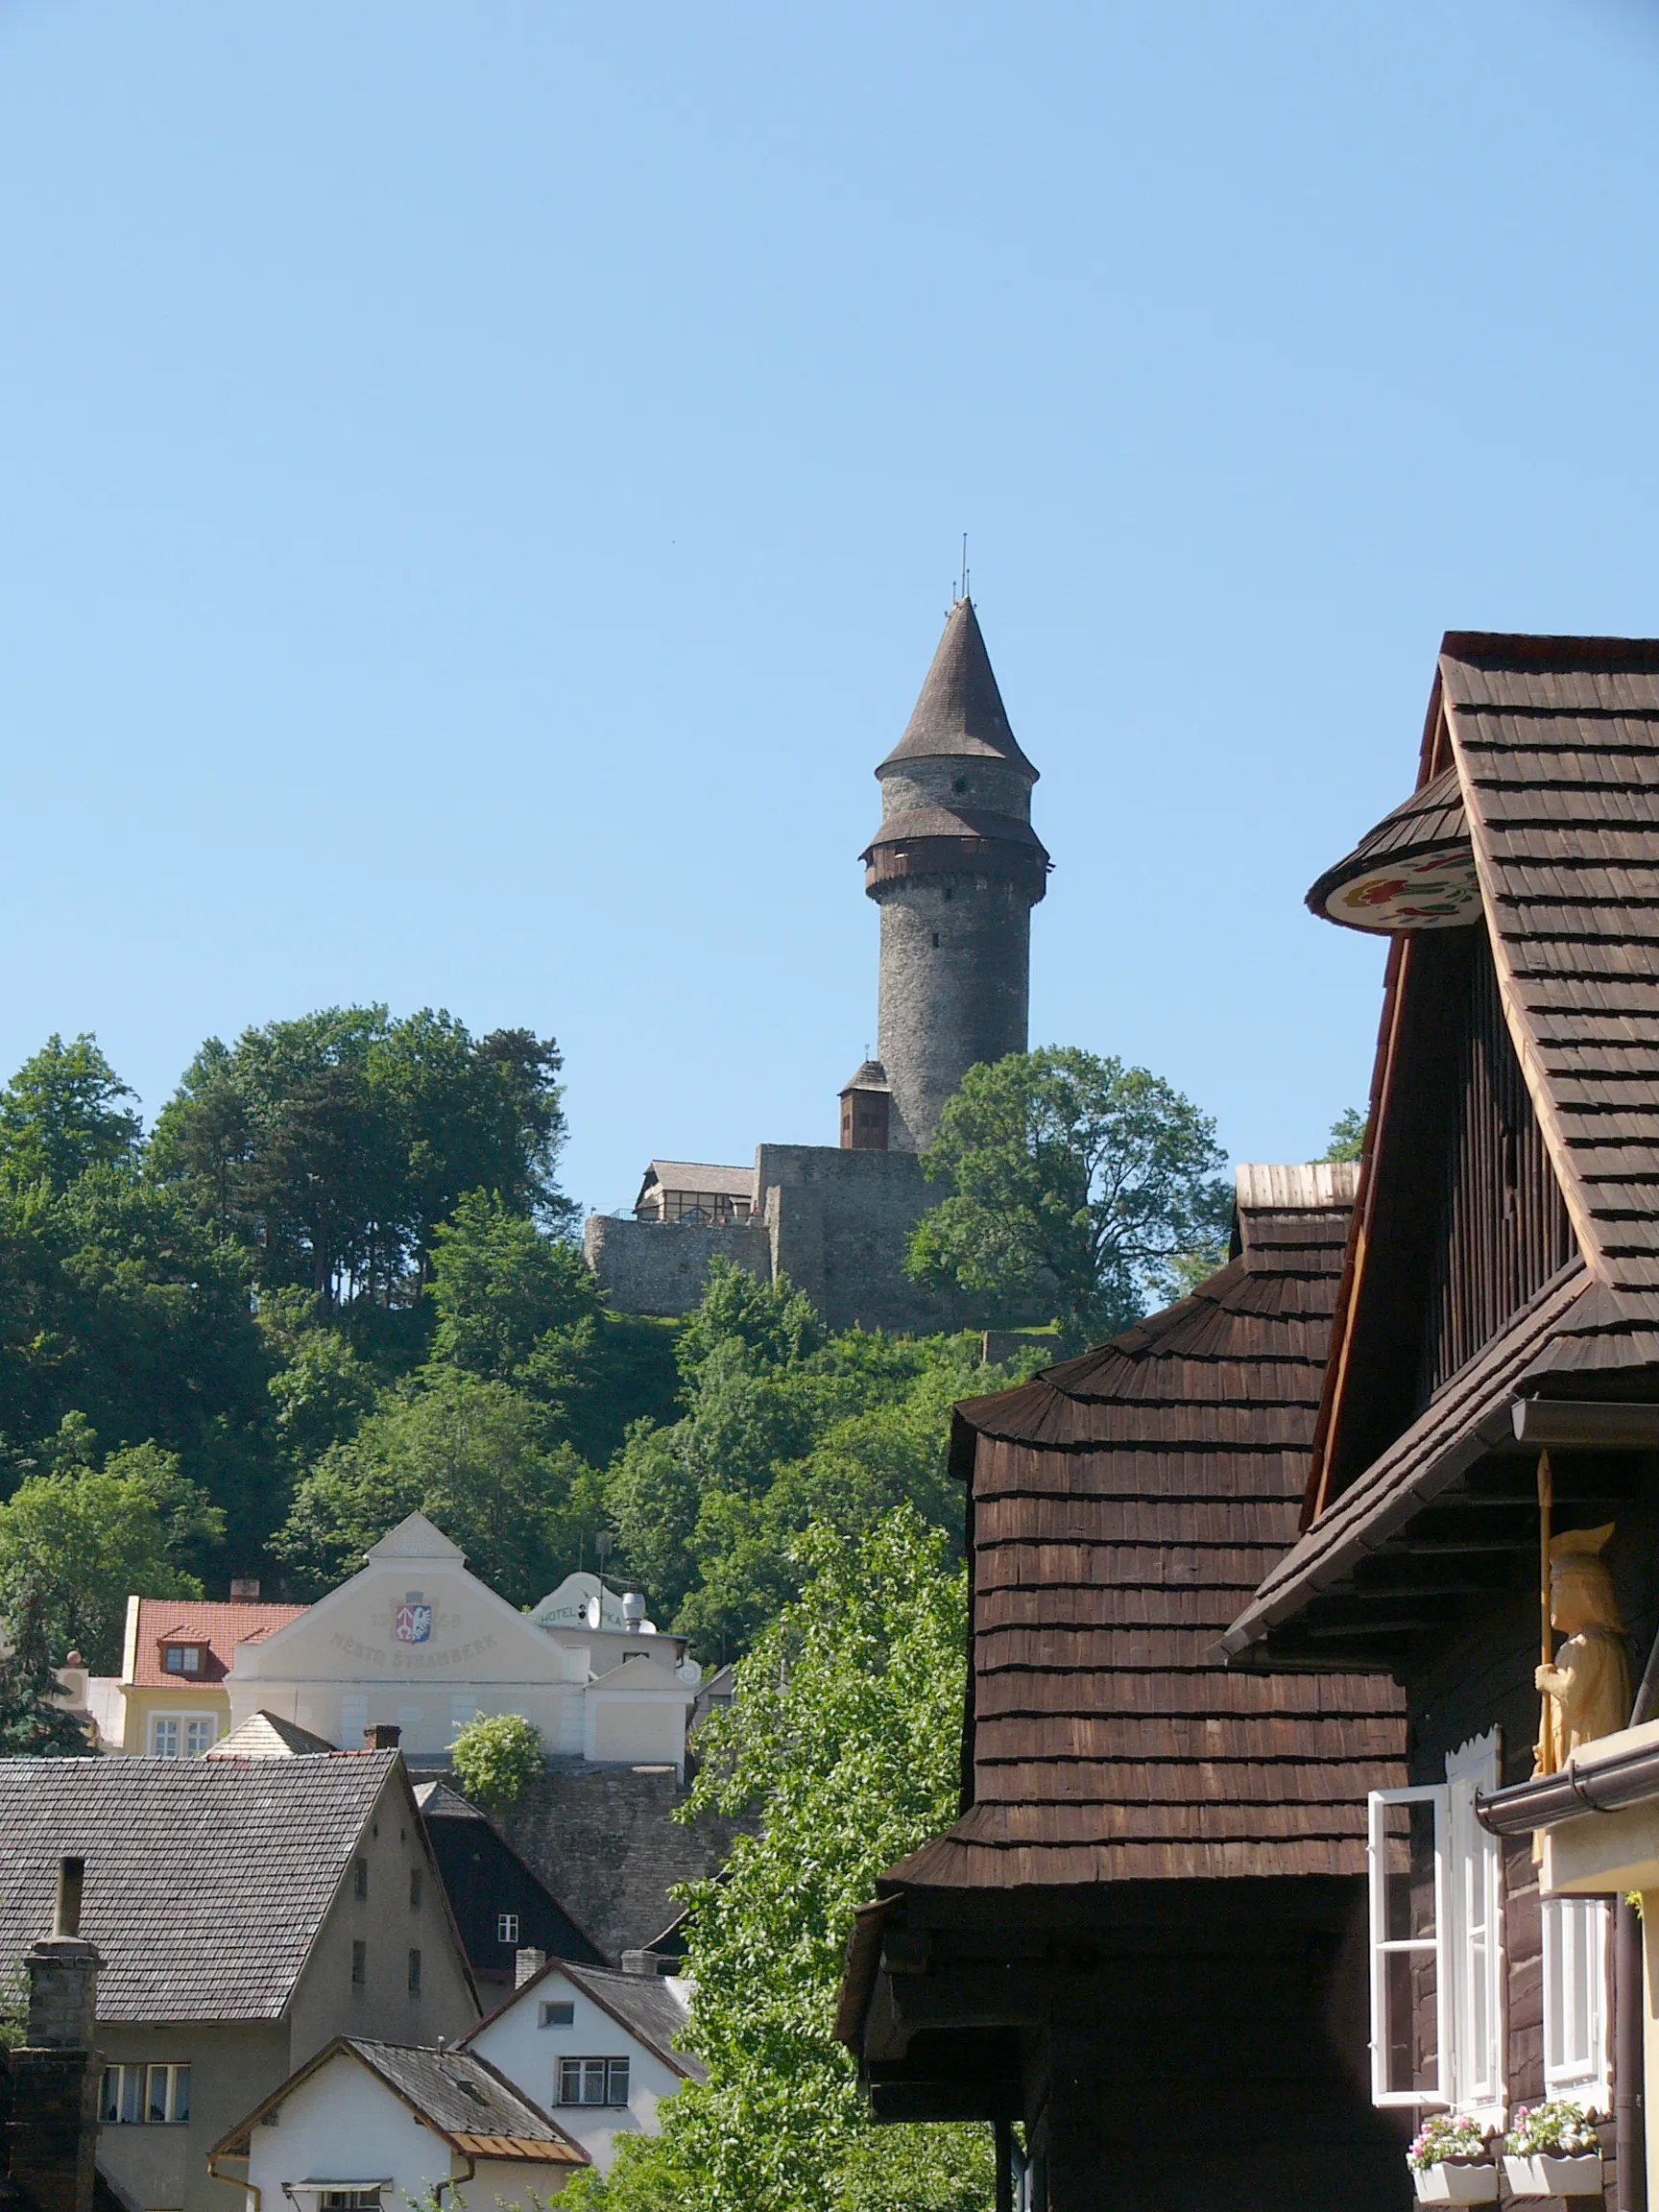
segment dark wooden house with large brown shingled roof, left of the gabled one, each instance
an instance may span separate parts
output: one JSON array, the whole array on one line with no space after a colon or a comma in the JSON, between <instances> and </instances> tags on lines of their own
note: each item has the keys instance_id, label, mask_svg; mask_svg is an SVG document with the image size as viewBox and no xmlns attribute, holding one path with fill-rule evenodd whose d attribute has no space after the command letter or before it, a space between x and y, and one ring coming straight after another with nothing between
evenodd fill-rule
<instances>
[{"instance_id":1,"label":"dark wooden house with large brown shingled roof, left of the gabled one","mask_svg":"<svg viewBox=\"0 0 1659 2212\"><path fill-rule=\"evenodd\" d=\"M1241 1168L1194 1296L958 1409L962 1816L878 1885L838 2033L878 2119L989 2119L1031 2212L1371 2212L1367 1794L1383 1674L1237 1672L1217 1639L1296 1537L1354 1170Z\"/></svg>"}]
</instances>

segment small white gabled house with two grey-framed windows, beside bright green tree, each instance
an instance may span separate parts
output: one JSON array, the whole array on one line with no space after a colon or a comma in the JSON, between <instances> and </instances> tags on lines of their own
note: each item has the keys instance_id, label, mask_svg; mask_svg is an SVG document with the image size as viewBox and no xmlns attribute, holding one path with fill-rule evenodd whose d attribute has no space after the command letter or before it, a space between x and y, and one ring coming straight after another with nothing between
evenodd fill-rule
<instances>
[{"instance_id":1,"label":"small white gabled house with two grey-framed windows, beside bright green tree","mask_svg":"<svg viewBox=\"0 0 1659 2212\"><path fill-rule=\"evenodd\" d=\"M520 1964L533 1966L533 1951ZM546 2106L602 2174L619 2135L657 2135L657 2106L703 2066L679 2048L690 1991L655 1973L549 1960L460 2048Z\"/></svg>"}]
</instances>

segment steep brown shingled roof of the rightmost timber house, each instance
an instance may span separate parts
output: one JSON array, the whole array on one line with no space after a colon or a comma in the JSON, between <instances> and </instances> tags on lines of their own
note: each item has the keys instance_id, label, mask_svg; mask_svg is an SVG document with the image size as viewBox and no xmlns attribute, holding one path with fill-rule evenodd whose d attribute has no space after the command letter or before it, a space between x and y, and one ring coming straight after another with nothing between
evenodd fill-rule
<instances>
[{"instance_id":1,"label":"steep brown shingled roof of the rightmost timber house","mask_svg":"<svg viewBox=\"0 0 1659 2212\"><path fill-rule=\"evenodd\" d=\"M1234 1655L1455 1484L1504 1436L1513 1398L1659 1396L1659 641L1449 633L1425 772L1447 757L1504 1024L1582 1263L1318 1513L1228 1632ZM1420 796L1442 783L1444 770ZM1365 1303L1363 1270L1356 1285L1338 1332Z\"/></svg>"}]
</instances>

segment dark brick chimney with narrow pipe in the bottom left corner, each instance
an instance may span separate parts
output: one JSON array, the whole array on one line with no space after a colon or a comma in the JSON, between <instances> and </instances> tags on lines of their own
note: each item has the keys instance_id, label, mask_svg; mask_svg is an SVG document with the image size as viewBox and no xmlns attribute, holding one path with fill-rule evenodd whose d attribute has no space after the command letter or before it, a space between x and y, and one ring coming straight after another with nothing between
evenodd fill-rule
<instances>
[{"instance_id":1,"label":"dark brick chimney with narrow pipe in the bottom left corner","mask_svg":"<svg viewBox=\"0 0 1659 2212\"><path fill-rule=\"evenodd\" d=\"M29 1980L27 2044L11 2053L11 2179L40 2212L91 2212L97 2157L97 2084L104 2062L93 2051L97 1949L80 1933L86 1865L58 1863L58 1911L51 1936L24 1958Z\"/></svg>"}]
</instances>

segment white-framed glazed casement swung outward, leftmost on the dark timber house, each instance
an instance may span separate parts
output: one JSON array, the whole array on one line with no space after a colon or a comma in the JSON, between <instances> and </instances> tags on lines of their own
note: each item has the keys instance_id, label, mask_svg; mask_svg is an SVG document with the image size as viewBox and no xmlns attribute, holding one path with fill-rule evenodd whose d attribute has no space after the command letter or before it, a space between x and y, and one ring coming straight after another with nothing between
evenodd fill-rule
<instances>
[{"instance_id":1,"label":"white-framed glazed casement swung outward, leftmost on the dark timber house","mask_svg":"<svg viewBox=\"0 0 1659 2212\"><path fill-rule=\"evenodd\" d=\"M1451 2101L1447 1801L1444 1783L1369 1798L1374 2104Z\"/></svg>"}]
</instances>

